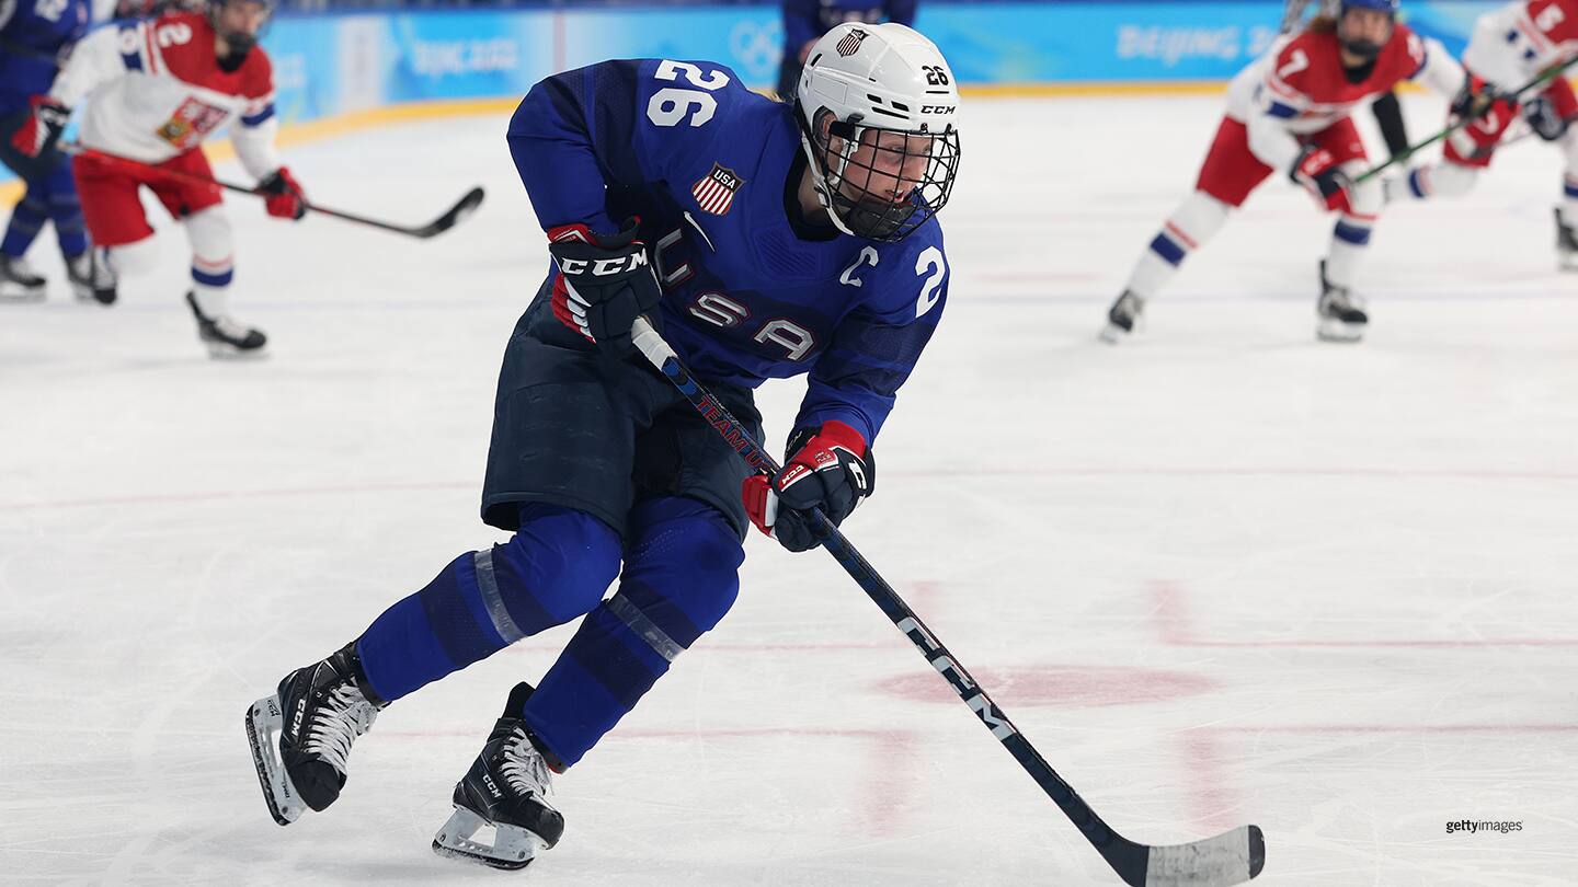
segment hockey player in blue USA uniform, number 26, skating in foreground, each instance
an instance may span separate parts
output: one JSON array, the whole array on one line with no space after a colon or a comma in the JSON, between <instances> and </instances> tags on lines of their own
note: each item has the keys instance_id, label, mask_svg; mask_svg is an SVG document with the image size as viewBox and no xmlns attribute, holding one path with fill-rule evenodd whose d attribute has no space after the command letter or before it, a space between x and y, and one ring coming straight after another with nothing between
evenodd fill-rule
<instances>
[{"instance_id":1,"label":"hockey player in blue USA uniform, number 26, skating in foreground","mask_svg":"<svg viewBox=\"0 0 1578 887\"><path fill-rule=\"evenodd\" d=\"M527 865L563 830L551 775L734 604L746 529L803 551L805 510L839 522L871 494L871 445L944 309L936 213L959 98L936 46L898 24L828 32L797 95L636 60L552 76L521 103L508 144L557 268L514 327L494 406L481 515L514 535L249 709L278 822L335 802L387 704L585 616L537 688L510 693L434 840ZM783 472L751 477L633 354L642 314L757 439L751 388L810 376Z\"/></svg>"}]
</instances>

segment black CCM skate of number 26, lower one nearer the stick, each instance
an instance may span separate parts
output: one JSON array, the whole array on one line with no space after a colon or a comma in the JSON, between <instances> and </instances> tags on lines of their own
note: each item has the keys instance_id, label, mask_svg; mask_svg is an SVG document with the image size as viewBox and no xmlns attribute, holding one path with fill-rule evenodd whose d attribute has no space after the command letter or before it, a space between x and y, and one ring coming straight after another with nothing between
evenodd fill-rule
<instances>
[{"instance_id":1,"label":"black CCM skate of number 26, lower one nearer the stick","mask_svg":"<svg viewBox=\"0 0 1578 887\"><path fill-rule=\"evenodd\" d=\"M488 745L454 786L454 813L432 838L432 852L514 870L565 833L565 818L544 799L552 778L548 761L521 720L530 694L527 683L510 693ZM492 844L478 838L486 829L494 832Z\"/></svg>"}]
</instances>

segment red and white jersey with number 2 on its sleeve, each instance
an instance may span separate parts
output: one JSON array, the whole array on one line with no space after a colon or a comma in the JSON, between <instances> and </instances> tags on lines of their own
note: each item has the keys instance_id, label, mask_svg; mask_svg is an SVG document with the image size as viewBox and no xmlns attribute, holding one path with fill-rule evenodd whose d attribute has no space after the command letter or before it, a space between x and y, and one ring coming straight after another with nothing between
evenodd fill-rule
<instances>
[{"instance_id":1,"label":"red and white jersey with number 2 on its sleeve","mask_svg":"<svg viewBox=\"0 0 1578 887\"><path fill-rule=\"evenodd\" d=\"M142 163L163 163L230 125L249 174L279 169L275 153L273 66L252 47L235 71L219 68L207 16L172 13L90 33L55 77L50 98L88 107L82 144Z\"/></svg>"}]
</instances>

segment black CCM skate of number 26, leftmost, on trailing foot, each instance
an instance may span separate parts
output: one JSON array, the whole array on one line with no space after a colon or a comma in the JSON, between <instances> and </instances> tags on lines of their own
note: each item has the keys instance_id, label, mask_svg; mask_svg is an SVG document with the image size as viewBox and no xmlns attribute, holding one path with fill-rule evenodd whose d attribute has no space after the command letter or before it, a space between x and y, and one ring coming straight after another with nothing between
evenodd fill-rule
<instances>
[{"instance_id":1,"label":"black CCM skate of number 26, leftmost, on trailing foot","mask_svg":"<svg viewBox=\"0 0 1578 887\"><path fill-rule=\"evenodd\" d=\"M246 712L257 783L275 822L289 825L308 807L323 810L346 786L346 758L385 705L368 688L355 644L298 668Z\"/></svg>"}]
</instances>

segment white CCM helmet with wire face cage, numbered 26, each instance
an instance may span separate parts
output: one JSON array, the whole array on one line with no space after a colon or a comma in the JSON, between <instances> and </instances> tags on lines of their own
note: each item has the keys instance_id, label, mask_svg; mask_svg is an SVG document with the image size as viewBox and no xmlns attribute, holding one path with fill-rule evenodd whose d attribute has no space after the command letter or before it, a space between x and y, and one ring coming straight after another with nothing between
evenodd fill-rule
<instances>
[{"instance_id":1,"label":"white CCM helmet with wire face cage, numbered 26","mask_svg":"<svg viewBox=\"0 0 1578 887\"><path fill-rule=\"evenodd\" d=\"M806 55L795 110L816 194L844 234L898 241L948 202L959 90L920 33L896 22L827 32Z\"/></svg>"}]
</instances>

